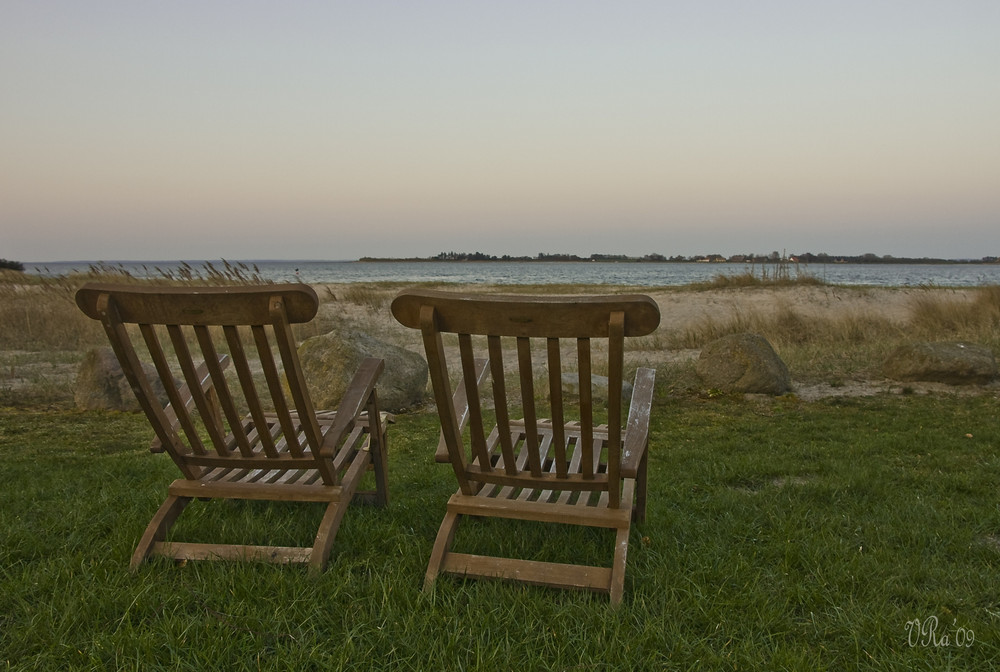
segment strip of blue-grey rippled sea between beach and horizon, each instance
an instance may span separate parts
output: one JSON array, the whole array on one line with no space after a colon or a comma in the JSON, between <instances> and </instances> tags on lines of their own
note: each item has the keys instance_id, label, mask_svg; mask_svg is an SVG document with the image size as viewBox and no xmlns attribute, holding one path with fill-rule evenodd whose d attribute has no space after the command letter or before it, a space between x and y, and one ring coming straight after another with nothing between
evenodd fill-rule
<instances>
[{"instance_id":1,"label":"strip of blue-grey rippled sea between beach and horizon","mask_svg":"<svg viewBox=\"0 0 1000 672\"><path fill-rule=\"evenodd\" d=\"M40 275L86 272L96 262L25 263L25 270ZM135 277L161 277L176 273L182 262L112 261L105 266L121 268ZM224 270L221 261L188 261L202 275L211 263ZM275 282L450 282L460 284L587 284L671 286L704 282L718 275L739 275L751 270L745 264L705 263L615 263L615 262L359 262L359 261L243 261L244 274L256 273ZM767 272L773 274L773 266ZM761 266L753 268L757 274ZM1000 284L1000 264L811 264L792 266L790 273L816 276L831 284L912 287L933 285L973 287Z\"/></svg>"}]
</instances>

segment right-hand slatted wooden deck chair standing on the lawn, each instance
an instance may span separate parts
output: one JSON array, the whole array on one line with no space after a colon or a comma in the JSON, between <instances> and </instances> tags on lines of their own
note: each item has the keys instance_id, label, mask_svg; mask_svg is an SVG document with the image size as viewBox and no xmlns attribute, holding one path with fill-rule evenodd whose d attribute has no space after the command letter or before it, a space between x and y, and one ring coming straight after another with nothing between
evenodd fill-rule
<instances>
[{"instance_id":1,"label":"right-hand slatted wooden deck chair standing on the lawn","mask_svg":"<svg viewBox=\"0 0 1000 672\"><path fill-rule=\"evenodd\" d=\"M651 333L660 321L646 296L498 296L404 291L392 303L403 325L420 329L441 420L437 459L450 462L458 491L448 501L425 577L439 572L503 578L562 588L607 592L621 601L632 520L646 509L646 459L655 372L640 368L628 419L622 428L624 340ZM457 356L443 334L457 334ZM485 336L483 339L481 336ZM513 339L513 342L511 342ZM539 342L540 350L532 349ZM448 342L454 342L448 336ZM485 341L485 342L484 342ZM607 347L607 403L595 409L592 392L598 348ZM579 399L563 391L563 343L575 350ZM504 351L513 346L516 389L509 390ZM600 347L598 345L598 347ZM485 349L485 358L478 357ZM538 357L538 352L544 356ZM546 365L535 388L536 357ZM449 369L460 369L452 388ZM492 395L480 393L489 375ZM512 420L519 391L524 418ZM512 393L513 392L513 393ZM547 396L551 418L539 417L536 392ZM547 394L546 394L547 393ZM486 433L489 409L496 427ZM597 424L597 418L607 422ZM610 568L452 552L462 516L514 518L611 528L616 531Z\"/></svg>"}]
</instances>

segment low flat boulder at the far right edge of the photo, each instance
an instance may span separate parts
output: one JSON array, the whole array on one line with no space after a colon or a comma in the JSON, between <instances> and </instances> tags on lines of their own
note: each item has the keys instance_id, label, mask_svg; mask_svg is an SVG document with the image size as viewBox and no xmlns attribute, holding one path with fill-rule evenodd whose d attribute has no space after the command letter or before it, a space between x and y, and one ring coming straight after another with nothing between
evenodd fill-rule
<instances>
[{"instance_id":1,"label":"low flat boulder at the far right edge of the photo","mask_svg":"<svg viewBox=\"0 0 1000 672\"><path fill-rule=\"evenodd\" d=\"M993 351L959 342L902 345L883 366L887 378L950 385L982 385L997 377Z\"/></svg>"}]
</instances>

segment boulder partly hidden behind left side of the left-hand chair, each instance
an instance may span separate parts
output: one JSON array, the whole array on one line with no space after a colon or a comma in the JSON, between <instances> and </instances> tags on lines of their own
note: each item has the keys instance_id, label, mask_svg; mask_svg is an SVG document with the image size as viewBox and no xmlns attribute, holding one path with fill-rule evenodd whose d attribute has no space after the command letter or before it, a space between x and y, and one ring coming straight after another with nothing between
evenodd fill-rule
<instances>
[{"instance_id":1,"label":"boulder partly hidden behind left side of the left-hand chair","mask_svg":"<svg viewBox=\"0 0 1000 672\"><path fill-rule=\"evenodd\" d=\"M165 405L167 395L153 365L143 363L142 367L153 387L153 393L159 398L160 404ZM88 411L139 410L139 402L132 394L132 388L125 379L125 372L122 371L114 350L107 347L95 348L84 354L77 369L73 400L77 408Z\"/></svg>"}]
</instances>

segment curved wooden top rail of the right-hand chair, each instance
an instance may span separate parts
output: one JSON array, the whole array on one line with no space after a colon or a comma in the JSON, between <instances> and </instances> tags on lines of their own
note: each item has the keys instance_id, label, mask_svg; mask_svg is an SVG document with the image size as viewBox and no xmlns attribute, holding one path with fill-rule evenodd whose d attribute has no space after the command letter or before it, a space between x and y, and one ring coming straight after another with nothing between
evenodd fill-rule
<instances>
[{"instance_id":1,"label":"curved wooden top rail of the right-hand chair","mask_svg":"<svg viewBox=\"0 0 1000 672\"><path fill-rule=\"evenodd\" d=\"M625 336L651 334L660 309L643 294L533 296L404 290L392 302L393 316L404 326L421 328L421 309L434 308L435 327L458 334L602 338L608 317L625 313Z\"/></svg>"}]
</instances>

